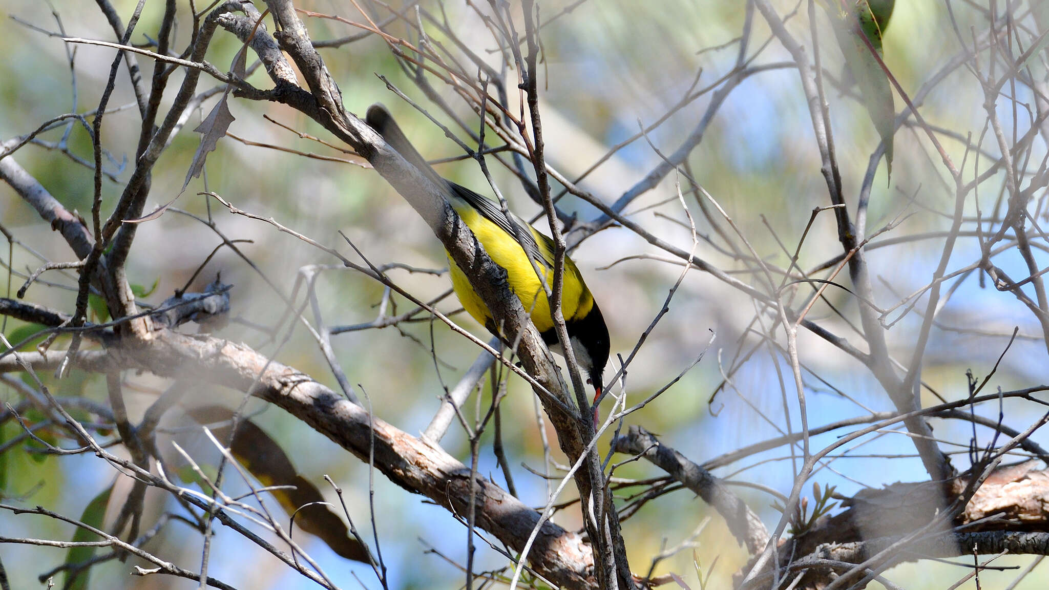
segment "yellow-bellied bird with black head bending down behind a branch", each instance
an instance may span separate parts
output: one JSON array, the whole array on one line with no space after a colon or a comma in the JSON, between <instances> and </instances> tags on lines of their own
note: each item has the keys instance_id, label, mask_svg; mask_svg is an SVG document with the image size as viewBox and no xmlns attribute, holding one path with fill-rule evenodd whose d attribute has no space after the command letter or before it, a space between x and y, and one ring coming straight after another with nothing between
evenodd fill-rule
<instances>
[{"instance_id":1,"label":"yellow-bellied bird with black head bending down behind a branch","mask_svg":"<svg viewBox=\"0 0 1049 590\"><path fill-rule=\"evenodd\" d=\"M443 178L411 145L383 105L371 105L365 122L420 172L437 186L448 187L445 197L463 223L477 237L477 241L492 261L507 271L510 290L520 299L524 311L531 313L532 322L542 336L543 342L551 351L564 356L557 339L550 301L543 289L543 281L547 286L552 286L554 280L554 240L517 215L504 213L502 208L494 201ZM470 285L466 273L455 265L450 254L448 261L452 288L463 308L489 332L501 338L495 328L492 313ZM539 280L536 269L542 273L542 281ZM568 329L576 362L586 375L586 382L594 386L593 417L596 423L597 402L603 387L601 379L608 362L611 346L608 326L594 299L594 294L583 281L579 268L568 256L564 257L562 285L561 313L564 317L564 326Z\"/></svg>"}]
</instances>

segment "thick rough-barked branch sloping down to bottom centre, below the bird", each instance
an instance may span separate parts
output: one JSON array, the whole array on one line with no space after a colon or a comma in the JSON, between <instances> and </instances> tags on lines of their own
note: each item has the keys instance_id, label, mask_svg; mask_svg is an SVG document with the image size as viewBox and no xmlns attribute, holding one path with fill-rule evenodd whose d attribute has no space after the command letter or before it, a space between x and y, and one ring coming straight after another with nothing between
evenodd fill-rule
<instances>
[{"instance_id":1,"label":"thick rough-barked branch sloping down to bottom centre, below the bird","mask_svg":"<svg viewBox=\"0 0 1049 590\"><path fill-rule=\"evenodd\" d=\"M374 465L401 487L466 513L470 468L441 447L369 416L308 375L270 361L242 344L207 336L154 332L148 345L120 351L133 366L163 377L221 384L278 405L315 430ZM477 478L477 526L520 551L539 522L539 513L491 481ZM529 562L544 577L566 588L592 588L593 553L579 535L545 522Z\"/></svg>"}]
</instances>

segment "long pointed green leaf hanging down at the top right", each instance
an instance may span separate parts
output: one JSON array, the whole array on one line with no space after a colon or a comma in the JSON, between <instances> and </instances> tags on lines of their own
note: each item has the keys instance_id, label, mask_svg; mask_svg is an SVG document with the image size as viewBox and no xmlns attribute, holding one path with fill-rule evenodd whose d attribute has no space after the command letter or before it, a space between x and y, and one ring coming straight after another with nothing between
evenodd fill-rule
<instances>
[{"instance_id":1,"label":"long pointed green leaf hanging down at the top right","mask_svg":"<svg viewBox=\"0 0 1049 590\"><path fill-rule=\"evenodd\" d=\"M896 107L893 104L892 84L879 58L882 55L882 34L889 25L894 4L891 0L858 0L852 10L832 10L830 14L834 35L845 58L845 66L856 80L863 106L885 144L885 164L889 166L890 176L893 173ZM868 41L877 51L877 57L868 47Z\"/></svg>"}]
</instances>

